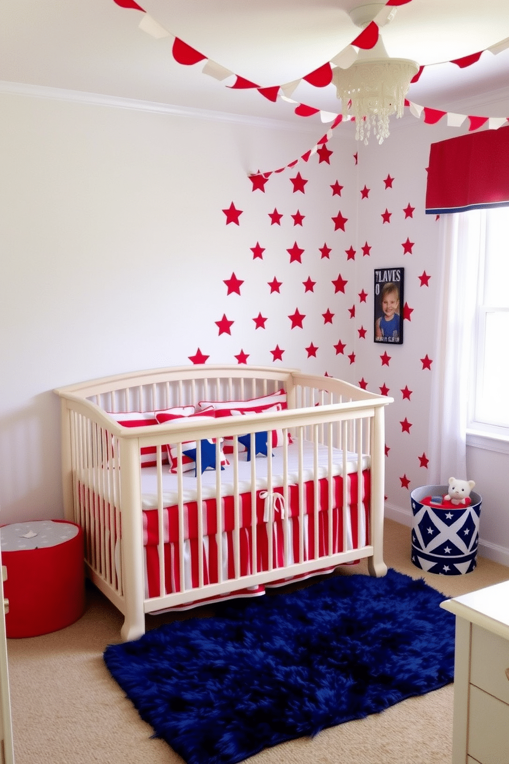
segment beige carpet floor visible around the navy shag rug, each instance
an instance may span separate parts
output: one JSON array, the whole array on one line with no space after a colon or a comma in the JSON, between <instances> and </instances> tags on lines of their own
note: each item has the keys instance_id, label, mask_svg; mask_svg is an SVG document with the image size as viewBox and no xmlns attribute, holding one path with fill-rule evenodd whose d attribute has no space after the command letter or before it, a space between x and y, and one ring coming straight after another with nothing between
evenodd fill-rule
<instances>
[{"instance_id":1,"label":"beige carpet floor visible around the navy shag rug","mask_svg":"<svg viewBox=\"0 0 509 764\"><path fill-rule=\"evenodd\" d=\"M385 562L414 578L410 529L385 522ZM366 565L344 569L366 573ZM424 574L455 597L509 579L509 568L478 558L468 575ZM147 619L147 628L168 616ZM182 764L138 717L108 674L102 652L119 641L121 616L95 588L84 616L59 632L9 639L9 676L16 764ZM250 764L449 764L453 685L411 698L364 720L266 749Z\"/></svg>"}]
</instances>

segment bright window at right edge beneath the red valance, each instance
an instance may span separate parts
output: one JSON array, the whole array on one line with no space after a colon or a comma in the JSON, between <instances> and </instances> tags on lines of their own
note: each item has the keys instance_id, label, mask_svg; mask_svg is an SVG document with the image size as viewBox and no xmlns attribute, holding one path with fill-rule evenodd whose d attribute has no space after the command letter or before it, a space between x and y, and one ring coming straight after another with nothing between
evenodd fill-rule
<instances>
[{"instance_id":1,"label":"bright window at right edge beneath the red valance","mask_svg":"<svg viewBox=\"0 0 509 764\"><path fill-rule=\"evenodd\" d=\"M469 429L509 439L509 208L483 215Z\"/></svg>"}]
</instances>

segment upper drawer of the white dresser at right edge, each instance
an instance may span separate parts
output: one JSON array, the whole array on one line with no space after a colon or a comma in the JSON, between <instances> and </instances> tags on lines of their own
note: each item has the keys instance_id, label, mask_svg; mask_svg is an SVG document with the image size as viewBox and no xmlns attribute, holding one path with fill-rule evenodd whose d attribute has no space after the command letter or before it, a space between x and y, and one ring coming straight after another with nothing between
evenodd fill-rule
<instances>
[{"instance_id":1,"label":"upper drawer of the white dresser at right edge","mask_svg":"<svg viewBox=\"0 0 509 764\"><path fill-rule=\"evenodd\" d=\"M472 624L472 685L509 703L509 642L501 636Z\"/></svg>"}]
</instances>

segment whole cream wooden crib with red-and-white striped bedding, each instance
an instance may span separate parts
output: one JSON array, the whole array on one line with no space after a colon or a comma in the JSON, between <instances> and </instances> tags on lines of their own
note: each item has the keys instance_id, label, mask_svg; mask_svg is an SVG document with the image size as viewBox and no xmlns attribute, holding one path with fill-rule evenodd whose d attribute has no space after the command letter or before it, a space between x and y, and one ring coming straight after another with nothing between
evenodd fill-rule
<instances>
[{"instance_id":1,"label":"whole cream wooden crib with red-and-white striped bedding","mask_svg":"<svg viewBox=\"0 0 509 764\"><path fill-rule=\"evenodd\" d=\"M243 365L55 392L65 516L83 528L89 578L124 614L123 639L144 633L146 613L263 594L361 558L385 575L391 398Z\"/></svg>"}]
</instances>

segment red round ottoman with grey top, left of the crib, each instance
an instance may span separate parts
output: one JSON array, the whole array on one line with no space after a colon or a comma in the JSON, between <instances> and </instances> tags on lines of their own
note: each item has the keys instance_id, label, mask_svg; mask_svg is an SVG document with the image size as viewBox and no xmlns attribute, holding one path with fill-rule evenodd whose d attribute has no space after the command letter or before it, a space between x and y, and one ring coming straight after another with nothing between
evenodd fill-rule
<instances>
[{"instance_id":1,"label":"red round ottoman with grey top, left of the crib","mask_svg":"<svg viewBox=\"0 0 509 764\"><path fill-rule=\"evenodd\" d=\"M0 528L8 637L63 629L85 610L83 532L66 520L35 520Z\"/></svg>"}]
</instances>

